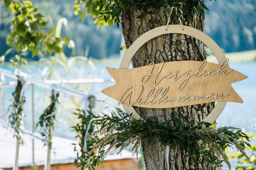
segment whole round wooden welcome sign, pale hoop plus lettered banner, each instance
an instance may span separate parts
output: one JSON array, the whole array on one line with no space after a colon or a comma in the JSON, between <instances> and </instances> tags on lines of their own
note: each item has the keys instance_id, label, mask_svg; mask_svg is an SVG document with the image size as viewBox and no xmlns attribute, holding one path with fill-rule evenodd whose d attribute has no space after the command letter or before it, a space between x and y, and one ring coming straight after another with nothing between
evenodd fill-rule
<instances>
[{"instance_id":1,"label":"whole round wooden welcome sign, pale hoop plus lettered banner","mask_svg":"<svg viewBox=\"0 0 256 170\"><path fill-rule=\"evenodd\" d=\"M218 64L206 60L171 61L128 69L131 59L143 44L154 37L172 33L189 35L203 42L212 51ZM231 84L247 76L229 68L228 59L208 35L186 25L151 29L131 44L119 69L106 68L116 84L102 90L102 93L119 101L135 119L142 118L132 106L171 108L217 101L214 109L202 120L213 123L228 101L243 103Z\"/></svg>"}]
</instances>

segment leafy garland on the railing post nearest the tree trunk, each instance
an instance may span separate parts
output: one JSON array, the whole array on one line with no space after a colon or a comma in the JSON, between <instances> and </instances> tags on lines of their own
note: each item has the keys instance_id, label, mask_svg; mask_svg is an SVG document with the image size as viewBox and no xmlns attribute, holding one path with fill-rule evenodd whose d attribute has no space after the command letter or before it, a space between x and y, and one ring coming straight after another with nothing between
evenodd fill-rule
<instances>
[{"instance_id":1,"label":"leafy garland on the railing post nearest the tree trunk","mask_svg":"<svg viewBox=\"0 0 256 170\"><path fill-rule=\"evenodd\" d=\"M72 126L71 128L73 128L73 131L77 132L77 136L76 138L79 138L79 147L76 147L76 144L74 143L73 145L75 145L74 150L77 152L77 158L75 158L75 164L77 167L81 166L81 170L83 170L85 167L83 165L83 162L88 162L90 161L90 158L94 155L94 152L90 152L90 150L86 150L85 148L85 137L86 137L86 130L87 128L89 128L88 130L88 136L90 136L95 128L94 124L90 124L90 116L86 116L86 112L84 110L80 110L77 109L78 113L74 113L75 115L77 115L79 118L79 122L75 125ZM97 136L95 136L94 138L98 139ZM87 148L92 148L94 146L94 143L92 142L92 139L89 139L86 142L86 147ZM90 166L88 167L89 170L94 170L95 167Z\"/></svg>"}]
</instances>

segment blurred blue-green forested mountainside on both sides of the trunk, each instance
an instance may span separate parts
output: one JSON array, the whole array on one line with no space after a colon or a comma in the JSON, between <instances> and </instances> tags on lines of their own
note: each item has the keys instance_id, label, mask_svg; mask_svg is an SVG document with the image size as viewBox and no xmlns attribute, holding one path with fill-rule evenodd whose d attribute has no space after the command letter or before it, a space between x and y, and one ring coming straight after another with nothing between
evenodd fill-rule
<instances>
[{"instance_id":1,"label":"blurred blue-green forested mountainside on both sides of the trunk","mask_svg":"<svg viewBox=\"0 0 256 170\"><path fill-rule=\"evenodd\" d=\"M63 27L62 36L69 36L76 45L76 55L84 55L86 46L90 46L90 57L101 59L118 55L121 41L121 28L116 26L96 28L92 18L82 22L80 16L73 14L73 1L32 0L40 12L46 16L50 27L64 17L68 28ZM238 52L256 49L256 1L255 0L206 0L209 11L205 11L205 33L209 35L224 52ZM3 7L0 31L0 56L8 49L6 38L9 35L12 14ZM9 54L8 59L14 53ZM66 48L65 54L71 55ZM30 55L28 58L31 58ZM37 58L34 58L37 59Z\"/></svg>"}]
</instances>

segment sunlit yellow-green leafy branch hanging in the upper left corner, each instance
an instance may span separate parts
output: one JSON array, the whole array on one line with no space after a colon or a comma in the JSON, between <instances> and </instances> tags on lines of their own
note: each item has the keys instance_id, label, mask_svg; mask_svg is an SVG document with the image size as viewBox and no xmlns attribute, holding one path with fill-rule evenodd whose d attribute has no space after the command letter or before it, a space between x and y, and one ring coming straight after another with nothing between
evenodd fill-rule
<instances>
[{"instance_id":1,"label":"sunlit yellow-green leafy branch hanging in the upper left corner","mask_svg":"<svg viewBox=\"0 0 256 170\"><path fill-rule=\"evenodd\" d=\"M63 50L63 45L69 43L68 37L56 37L55 29L49 31L43 29L48 22L38 12L38 8L33 7L31 1L5 0L4 2L5 6L9 7L15 16L7 44L15 47L17 52L29 50L32 52L32 56L35 56L40 50L40 43L42 42L41 50L45 54L60 53Z\"/></svg>"}]
</instances>

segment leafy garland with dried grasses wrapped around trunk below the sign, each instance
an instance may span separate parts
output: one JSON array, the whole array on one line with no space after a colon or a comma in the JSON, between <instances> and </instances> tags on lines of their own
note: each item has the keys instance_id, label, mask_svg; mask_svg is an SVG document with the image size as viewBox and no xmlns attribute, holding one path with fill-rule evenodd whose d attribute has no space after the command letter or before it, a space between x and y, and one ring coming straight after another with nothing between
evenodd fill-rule
<instances>
[{"instance_id":1,"label":"leafy garland with dried grasses wrapped around trunk below the sign","mask_svg":"<svg viewBox=\"0 0 256 170\"><path fill-rule=\"evenodd\" d=\"M103 116L95 116L92 111L88 111L88 120L92 120L95 125L101 125L100 130L92 133L88 140L94 142L96 145L90 148L90 153L99 149L98 156L92 156L90 160L83 162L86 167L91 165L98 165L104 161L106 153L111 148L118 149L120 153L126 146L134 143L133 152L138 155L138 148L140 143L142 146L146 142L151 144L156 139L162 143L163 146L170 147L179 146L181 151L185 149L193 159L205 159L208 164L222 167L222 162L226 162L229 169L231 165L228 157L225 154L227 146L234 145L246 158L244 152L245 145L250 147L249 137L241 132L241 129L233 127L215 128L216 124L211 125L206 123L206 128L202 128L203 122L197 125L187 125L179 118L179 114L171 114L172 121L176 125L174 128L168 122L158 122L158 118L150 117L146 121L132 119L132 114L127 114L122 110L116 108L117 114L112 112L112 116L103 114ZM83 117L83 115L81 116ZM234 130L237 130L234 132ZM104 135L99 139L93 138L94 135ZM105 147L109 148L105 150ZM220 160L217 155L221 156Z\"/></svg>"}]
</instances>

